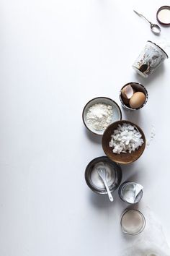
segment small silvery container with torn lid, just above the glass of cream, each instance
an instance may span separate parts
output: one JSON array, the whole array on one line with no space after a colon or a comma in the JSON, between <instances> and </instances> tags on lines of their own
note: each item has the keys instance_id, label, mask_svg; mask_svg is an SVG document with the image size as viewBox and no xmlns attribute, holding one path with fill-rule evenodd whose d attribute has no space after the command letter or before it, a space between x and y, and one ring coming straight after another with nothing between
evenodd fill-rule
<instances>
[{"instance_id":1,"label":"small silvery container with torn lid, just above the glass of cream","mask_svg":"<svg viewBox=\"0 0 170 256\"><path fill-rule=\"evenodd\" d=\"M130 204L135 204L142 199L143 190L140 190L138 195L135 197L135 200L132 200L132 199L130 200L130 196L132 197L133 193L135 193L134 191L135 185L138 185L138 184L135 182L124 182L121 184L119 188L119 196L122 199L122 201L128 202Z\"/></svg>"}]
</instances>

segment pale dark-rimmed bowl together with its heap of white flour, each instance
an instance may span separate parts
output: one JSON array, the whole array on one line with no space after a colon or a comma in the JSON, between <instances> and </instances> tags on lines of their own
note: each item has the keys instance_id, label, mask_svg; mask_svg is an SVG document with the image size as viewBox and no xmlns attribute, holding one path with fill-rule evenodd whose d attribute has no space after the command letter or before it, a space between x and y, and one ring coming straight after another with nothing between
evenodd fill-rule
<instances>
[{"instance_id":1,"label":"pale dark-rimmed bowl together with its heap of white flour","mask_svg":"<svg viewBox=\"0 0 170 256\"><path fill-rule=\"evenodd\" d=\"M109 124L122 119L122 112L111 98L97 97L86 103L82 118L90 132L103 135Z\"/></svg>"}]
</instances>

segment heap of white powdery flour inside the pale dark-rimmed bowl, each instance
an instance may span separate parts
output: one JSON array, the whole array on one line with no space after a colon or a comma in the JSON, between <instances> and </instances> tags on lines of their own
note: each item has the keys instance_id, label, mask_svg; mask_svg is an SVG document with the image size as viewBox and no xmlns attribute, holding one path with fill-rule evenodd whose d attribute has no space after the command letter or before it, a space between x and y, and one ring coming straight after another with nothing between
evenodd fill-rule
<instances>
[{"instance_id":1,"label":"heap of white powdery flour inside the pale dark-rimmed bowl","mask_svg":"<svg viewBox=\"0 0 170 256\"><path fill-rule=\"evenodd\" d=\"M95 103L86 114L87 124L97 131L106 129L112 122L112 106L104 103Z\"/></svg>"}]
</instances>

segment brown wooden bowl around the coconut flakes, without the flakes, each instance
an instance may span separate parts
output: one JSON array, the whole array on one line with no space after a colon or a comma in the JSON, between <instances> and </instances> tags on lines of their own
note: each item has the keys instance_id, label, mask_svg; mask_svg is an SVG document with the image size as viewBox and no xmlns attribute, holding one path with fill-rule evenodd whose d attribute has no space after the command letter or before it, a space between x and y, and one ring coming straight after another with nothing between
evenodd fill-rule
<instances>
[{"instance_id":1,"label":"brown wooden bowl around the coconut flakes, without the flakes","mask_svg":"<svg viewBox=\"0 0 170 256\"><path fill-rule=\"evenodd\" d=\"M113 134L114 130L117 129L118 125L122 124L131 124L139 130L140 134L142 135L143 138L143 145L141 145L138 150L133 151L132 153L120 153L120 154L115 154L112 152L112 148L109 147L109 142L111 140L111 135ZM107 129L104 131L104 135L102 137L102 148L104 150L104 153L108 156L108 158L116 163L133 163L136 161L138 158L140 158L140 155L142 155L144 149L146 148L146 137L143 133L143 130L138 127L137 124L134 124L131 121L127 120L120 120L120 121L115 121L115 123L112 123L107 127Z\"/></svg>"}]
</instances>

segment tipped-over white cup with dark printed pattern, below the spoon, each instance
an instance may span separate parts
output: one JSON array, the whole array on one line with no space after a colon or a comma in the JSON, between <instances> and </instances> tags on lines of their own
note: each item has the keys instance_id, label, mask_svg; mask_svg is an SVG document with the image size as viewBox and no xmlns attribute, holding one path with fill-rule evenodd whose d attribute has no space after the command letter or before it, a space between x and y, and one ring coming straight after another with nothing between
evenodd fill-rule
<instances>
[{"instance_id":1,"label":"tipped-over white cup with dark printed pattern, below the spoon","mask_svg":"<svg viewBox=\"0 0 170 256\"><path fill-rule=\"evenodd\" d=\"M165 59L168 59L166 52L156 43L147 41L145 48L133 64L133 68L143 77L152 74Z\"/></svg>"}]
</instances>

